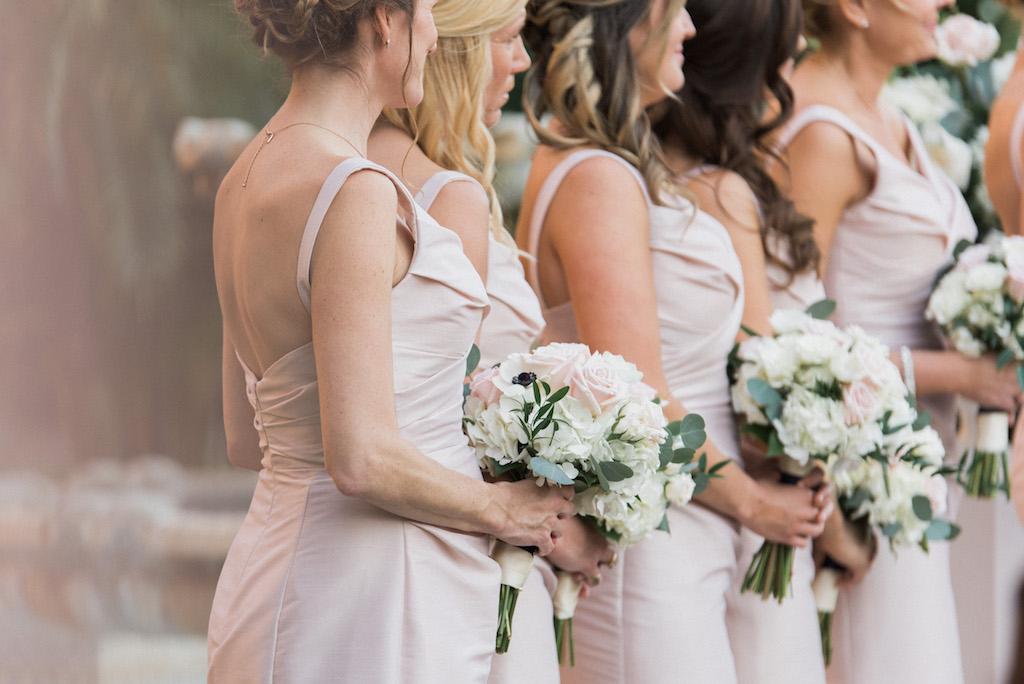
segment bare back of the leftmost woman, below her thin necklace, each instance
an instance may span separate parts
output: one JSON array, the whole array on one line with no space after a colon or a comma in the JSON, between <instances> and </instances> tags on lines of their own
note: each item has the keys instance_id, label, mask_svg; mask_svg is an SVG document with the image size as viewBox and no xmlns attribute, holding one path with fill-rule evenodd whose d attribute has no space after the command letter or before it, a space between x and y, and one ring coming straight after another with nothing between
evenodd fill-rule
<instances>
[{"instance_id":1,"label":"bare back of the leftmost woman, below her thin necklace","mask_svg":"<svg viewBox=\"0 0 1024 684\"><path fill-rule=\"evenodd\" d=\"M293 129L267 144L261 133L217 194L214 271L225 336L246 366L260 376L312 339L309 312L296 288L299 245L321 184L351 156L342 141L328 138L327 133ZM397 210L391 181L360 171L338 193L328 221L357 222L358 206L368 197L380 198ZM407 230L397 229L396 236L394 283L404 274L413 250Z\"/></svg>"}]
</instances>

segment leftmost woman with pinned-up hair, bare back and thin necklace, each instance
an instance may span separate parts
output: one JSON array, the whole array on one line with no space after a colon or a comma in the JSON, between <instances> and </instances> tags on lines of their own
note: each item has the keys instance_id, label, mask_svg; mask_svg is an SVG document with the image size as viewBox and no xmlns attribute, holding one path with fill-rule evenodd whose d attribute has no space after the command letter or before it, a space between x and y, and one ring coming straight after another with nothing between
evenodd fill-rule
<instances>
[{"instance_id":1,"label":"leftmost woman with pinned-up hair, bare back and thin necklace","mask_svg":"<svg viewBox=\"0 0 1024 684\"><path fill-rule=\"evenodd\" d=\"M548 553L572 510L571 490L480 478L460 350L483 285L362 155L383 106L422 97L432 6L237 2L292 86L216 202L229 458L261 469L214 597L211 682L484 682L486 536Z\"/></svg>"}]
</instances>

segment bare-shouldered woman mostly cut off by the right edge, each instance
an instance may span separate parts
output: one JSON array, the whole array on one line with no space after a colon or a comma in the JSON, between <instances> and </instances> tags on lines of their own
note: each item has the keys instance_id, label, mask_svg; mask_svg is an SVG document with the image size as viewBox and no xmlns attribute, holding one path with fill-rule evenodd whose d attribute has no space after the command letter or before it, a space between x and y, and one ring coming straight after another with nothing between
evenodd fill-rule
<instances>
[{"instance_id":1,"label":"bare-shouldered woman mostly cut off by the right edge","mask_svg":"<svg viewBox=\"0 0 1024 684\"><path fill-rule=\"evenodd\" d=\"M1000 0L1018 17L1024 17L1024 2ZM1024 40L1024 28L1021 32ZM1024 193L1024 51L1018 53L1010 79L992 102L985 143L985 185L1002 230L1024 234L1021 194Z\"/></svg>"}]
</instances>

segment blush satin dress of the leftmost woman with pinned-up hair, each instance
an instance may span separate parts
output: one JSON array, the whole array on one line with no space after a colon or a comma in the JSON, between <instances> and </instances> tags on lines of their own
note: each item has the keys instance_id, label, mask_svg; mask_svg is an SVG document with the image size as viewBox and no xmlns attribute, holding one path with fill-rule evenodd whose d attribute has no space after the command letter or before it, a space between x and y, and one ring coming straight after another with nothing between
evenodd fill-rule
<instances>
[{"instance_id":1,"label":"blush satin dress of the leftmost woman with pinned-up hair","mask_svg":"<svg viewBox=\"0 0 1024 684\"><path fill-rule=\"evenodd\" d=\"M391 297L399 431L427 457L479 478L462 432L462 381L487 298L455 233L415 210L383 168L345 160L306 223L296 297L308 309L321 222L361 169L394 180L416 216L409 272ZM415 522L338 491L324 467L311 343L262 378L245 375L263 469L217 585L209 681L485 682L501 582L486 537Z\"/></svg>"}]
</instances>

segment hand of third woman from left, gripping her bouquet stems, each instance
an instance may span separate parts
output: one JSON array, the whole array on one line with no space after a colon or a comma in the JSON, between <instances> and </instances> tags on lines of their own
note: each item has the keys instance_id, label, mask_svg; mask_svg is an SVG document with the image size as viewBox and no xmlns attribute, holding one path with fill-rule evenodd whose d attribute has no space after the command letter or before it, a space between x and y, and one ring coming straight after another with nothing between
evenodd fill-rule
<instances>
[{"instance_id":1,"label":"hand of third woman from left, gripping her bouquet stems","mask_svg":"<svg viewBox=\"0 0 1024 684\"><path fill-rule=\"evenodd\" d=\"M831 487L819 481L816 472L796 484L756 480L739 521L769 542L804 548L833 511Z\"/></svg>"}]
</instances>

